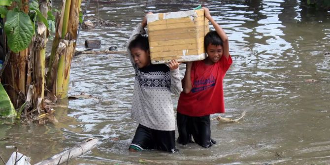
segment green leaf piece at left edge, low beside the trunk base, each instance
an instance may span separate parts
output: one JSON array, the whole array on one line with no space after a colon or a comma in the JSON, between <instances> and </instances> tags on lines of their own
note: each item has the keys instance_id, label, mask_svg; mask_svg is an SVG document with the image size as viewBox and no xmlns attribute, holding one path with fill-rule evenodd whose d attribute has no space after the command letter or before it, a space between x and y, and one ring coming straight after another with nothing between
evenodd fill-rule
<instances>
[{"instance_id":1,"label":"green leaf piece at left edge, low beside the trunk base","mask_svg":"<svg viewBox=\"0 0 330 165\"><path fill-rule=\"evenodd\" d=\"M6 91L0 83L0 117L16 116L16 111Z\"/></svg>"}]
</instances>

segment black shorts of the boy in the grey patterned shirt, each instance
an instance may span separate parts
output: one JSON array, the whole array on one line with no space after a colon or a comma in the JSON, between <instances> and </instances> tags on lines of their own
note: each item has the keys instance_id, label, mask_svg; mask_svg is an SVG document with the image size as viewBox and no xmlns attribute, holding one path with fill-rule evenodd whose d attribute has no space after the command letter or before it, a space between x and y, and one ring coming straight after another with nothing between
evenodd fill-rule
<instances>
[{"instance_id":1,"label":"black shorts of the boy in the grey patterned shirt","mask_svg":"<svg viewBox=\"0 0 330 165\"><path fill-rule=\"evenodd\" d=\"M142 149L158 149L168 152L176 152L175 131L160 131L138 125L131 146Z\"/></svg>"}]
</instances>

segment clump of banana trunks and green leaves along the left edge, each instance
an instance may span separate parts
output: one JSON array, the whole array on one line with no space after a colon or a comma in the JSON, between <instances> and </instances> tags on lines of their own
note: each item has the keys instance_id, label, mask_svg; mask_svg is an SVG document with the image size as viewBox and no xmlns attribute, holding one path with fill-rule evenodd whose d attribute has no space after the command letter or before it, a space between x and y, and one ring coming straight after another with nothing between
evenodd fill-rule
<instances>
[{"instance_id":1,"label":"clump of banana trunks and green leaves along the left edge","mask_svg":"<svg viewBox=\"0 0 330 165\"><path fill-rule=\"evenodd\" d=\"M52 114L45 102L67 97L81 0L62 1L57 17L49 0L0 1L0 80L14 108L20 109L17 118L20 112L30 119ZM50 32L55 38L46 72L45 47Z\"/></svg>"}]
</instances>

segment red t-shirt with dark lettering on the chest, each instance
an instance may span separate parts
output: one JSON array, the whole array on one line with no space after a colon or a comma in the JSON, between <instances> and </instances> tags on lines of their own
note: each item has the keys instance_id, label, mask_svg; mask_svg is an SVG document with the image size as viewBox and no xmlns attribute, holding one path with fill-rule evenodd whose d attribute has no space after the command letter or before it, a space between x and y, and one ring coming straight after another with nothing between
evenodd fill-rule
<instances>
[{"instance_id":1,"label":"red t-shirt with dark lettering on the chest","mask_svg":"<svg viewBox=\"0 0 330 165\"><path fill-rule=\"evenodd\" d=\"M193 62L192 90L181 92L177 111L188 116L205 116L225 112L223 79L232 64L231 56L207 66L204 61Z\"/></svg>"}]
</instances>

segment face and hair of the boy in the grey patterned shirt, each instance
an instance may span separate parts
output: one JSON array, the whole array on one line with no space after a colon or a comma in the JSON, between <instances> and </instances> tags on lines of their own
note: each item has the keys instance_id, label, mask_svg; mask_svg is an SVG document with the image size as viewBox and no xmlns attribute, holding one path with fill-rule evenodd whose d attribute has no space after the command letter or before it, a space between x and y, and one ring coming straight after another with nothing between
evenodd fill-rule
<instances>
[{"instance_id":1,"label":"face and hair of the boy in the grey patterned shirt","mask_svg":"<svg viewBox=\"0 0 330 165\"><path fill-rule=\"evenodd\" d=\"M135 47L131 49L132 59L138 68L150 65L150 53L141 48Z\"/></svg>"}]
</instances>

